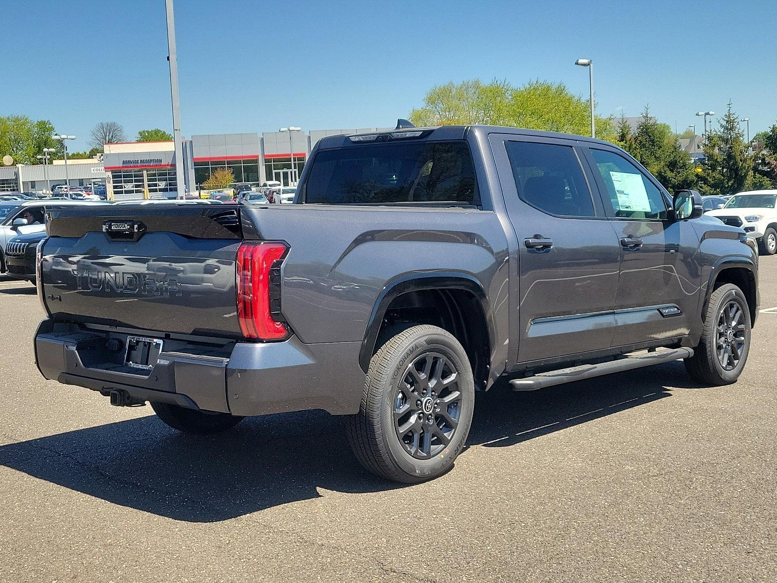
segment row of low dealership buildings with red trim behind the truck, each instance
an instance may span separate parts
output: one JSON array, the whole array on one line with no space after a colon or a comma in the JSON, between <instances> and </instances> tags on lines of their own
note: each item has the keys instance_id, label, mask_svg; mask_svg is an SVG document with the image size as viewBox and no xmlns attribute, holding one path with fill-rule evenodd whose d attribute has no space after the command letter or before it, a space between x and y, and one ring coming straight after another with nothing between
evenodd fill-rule
<instances>
[{"instance_id":1,"label":"row of low dealership buildings with red trim behind the truck","mask_svg":"<svg viewBox=\"0 0 777 583\"><path fill-rule=\"evenodd\" d=\"M384 127L336 130L272 131L257 134L197 134L183 140L183 176L186 190L199 190L214 169L232 169L235 182L277 180L284 186L299 180L308 155L321 138L336 134L382 131ZM105 183L110 198L131 200L173 196L177 191L176 153L172 141L106 144L102 160L68 160L71 186ZM39 166L0 167L0 192L51 190L65 183L61 160Z\"/></svg>"}]
</instances>

